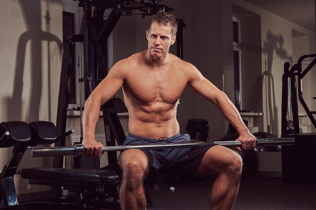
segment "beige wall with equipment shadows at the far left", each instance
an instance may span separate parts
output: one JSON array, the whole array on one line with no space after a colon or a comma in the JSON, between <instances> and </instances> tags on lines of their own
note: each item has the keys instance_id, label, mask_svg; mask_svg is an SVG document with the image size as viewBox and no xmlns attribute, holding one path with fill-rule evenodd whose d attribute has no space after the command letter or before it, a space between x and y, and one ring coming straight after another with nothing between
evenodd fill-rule
<instances>
[{"instance_id":1,"label":"beige wall with equipment shadows at the far left","mask_svg":"<svg viewBox=\"0 0 316 210\"><path fill-rule=\"evenodd\" d=\"M62 4L59 1L2 2L0 17L0 121L56 122L62 50ZM49 16L46 22L45 16ZM11 153L1 149L0 168ZM20 167L51 165L27 151ZM20 169L19 167L19 169ZM15 176L17 193L46 189Z\"/></svg>"}]
</instances>

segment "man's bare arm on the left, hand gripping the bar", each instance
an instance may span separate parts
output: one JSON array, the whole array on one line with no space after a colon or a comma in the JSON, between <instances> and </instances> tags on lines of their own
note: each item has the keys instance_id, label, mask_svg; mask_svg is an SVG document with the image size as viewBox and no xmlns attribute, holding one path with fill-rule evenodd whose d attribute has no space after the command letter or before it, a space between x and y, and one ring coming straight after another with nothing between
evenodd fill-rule
<instances>
[{"instance_id":1,"label":"man's bare arm on the left, hand gripping the bar","mask_svg":"<svg viewBox=\"0 0 316 210\"><path fill-rule=\"evenodd\" d=\"M83 111L83 150L85 155L100 157L103 145L95 140L94 132L99 118L100 106L109 101L121 88L125 78L125 63L122 60L116 63L100 84L92 91L85 102Z\"/></svg>"}]
</instances>

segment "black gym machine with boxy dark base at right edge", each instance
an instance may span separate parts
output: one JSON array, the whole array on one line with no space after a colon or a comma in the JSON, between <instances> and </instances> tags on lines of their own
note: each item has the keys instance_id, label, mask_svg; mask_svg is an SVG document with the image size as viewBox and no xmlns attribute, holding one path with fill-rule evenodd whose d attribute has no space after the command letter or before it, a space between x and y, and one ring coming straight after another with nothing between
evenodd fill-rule
<instances>
[{"instance_id":1,"label":"black gym machine with boxy dark base at right edge","mask_svg":"<svg viewBox=\"0 0 316 210\"><path fill-rule=\"evenodd\" d=\"M315 64L316 54L301 56L291 68L289 62L284 63L281 137L294 137L295 144L282 147L283 182L316 184L316 166L314 164L316 159L314 155L316 133L300 133L297 102L298 98L311 124L316 128L316 121L313 116L316 111L311 111L308 108L302 89L304 77ZM313 97L312 99L316 98Z\"/></svg>"}]
</instances>

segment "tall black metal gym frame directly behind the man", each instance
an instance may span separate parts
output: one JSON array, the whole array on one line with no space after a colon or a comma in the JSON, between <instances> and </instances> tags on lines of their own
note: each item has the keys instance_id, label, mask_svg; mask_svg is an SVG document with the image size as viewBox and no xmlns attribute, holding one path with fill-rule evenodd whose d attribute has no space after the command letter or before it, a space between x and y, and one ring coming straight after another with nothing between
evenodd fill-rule
<instances>
[{"instance_id":1,"label":"tall black metal gym frame directly behind the man","mask_svg":"<svg viewBox=\"0 0 316 210\"><path fill-rule=\"evenodd\" d=\"M173 9L158 4L160 1L150 0L150 3L144 1L116 1L116 0L82 0L79 6L83 7L84 16L82 19L83 34L74 35L64 41L64 54L62 63L62 72L60 80L60 91L57 111L57 132L61 135L66 131L67 110L69 106L70 71L72 65L71 53L73 52L75 42L83 42L84 67L83 78L79 82L85 82L85 99L91 94L92 90L108 74L107 59L107 40L115 28L117 22L123 13L132 15L132 10L140 10L142 16L150 16L164 10L166 12ZM136 4L136 6L135 6ZM92 13L92 7L94 11ZM103 20L104 11L112 10L106 21ZM177 55L183 59L183 30L184 21L178 20L177 32ZM127 112L127 108L116 108L111 102L101 106L103 111L104 131L106 133L107 146L122 145L125 141L125 133L120 123L117 113ZM55 146L65 146L65 139L62 139ZM117 153L108 153L109 166L107 168L117 168ZM64 157L54 157L53 167L62 168ZM56 197L60 197L60 189L52 188Z\"/></svg>"}]
</instances>

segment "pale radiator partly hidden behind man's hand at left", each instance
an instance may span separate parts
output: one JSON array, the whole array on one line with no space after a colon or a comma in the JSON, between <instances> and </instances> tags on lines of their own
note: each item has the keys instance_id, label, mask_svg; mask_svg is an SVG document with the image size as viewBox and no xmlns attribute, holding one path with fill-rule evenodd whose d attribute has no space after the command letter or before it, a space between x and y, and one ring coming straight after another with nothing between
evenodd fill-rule
<instances>
[{"instance_id":1,"label":"pale radiator partly hidden behind man's hand at left","mask_svg":"<svg viewBox=\"0 0 316 210\"><path fill-rule=\"evenodd\" d=\"M127 135L128 132L125 132L125 135ZM105 133L95 133L95 139L96 141L100 142L102 145L107 146L107 140L106 140L106 134ZM80 142L80 134L72 134L70 136L70 145L69 146L73 146L74 143L78 143ZM117 156L119 157L120 152L117 152ZM100 158L100 168L106 167L107 165L109 165L108 162L108 155L107 153L104 154L101 158ZM66 159L66 167L73 167L73 159L71 158L71 160L67 160Z\"/></svg>"}]
</instances>

